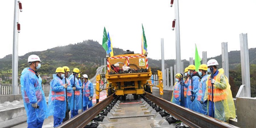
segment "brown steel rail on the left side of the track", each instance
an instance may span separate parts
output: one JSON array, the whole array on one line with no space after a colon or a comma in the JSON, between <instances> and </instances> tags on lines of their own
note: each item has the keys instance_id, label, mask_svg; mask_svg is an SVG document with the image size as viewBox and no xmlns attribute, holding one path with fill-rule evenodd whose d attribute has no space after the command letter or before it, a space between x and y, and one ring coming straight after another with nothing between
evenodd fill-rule
<instances>
[{"instance_id":1,"label":"brown steel rail on the left side of the track","mask_svg":"<svg viewBox=\"0 0 256 128\"><path fill-rule=\"evenodd\" d=\"M95 116L99 114L114 98L114 93L102 100L98 104L89 108L87 111L80 113L79 115L67 120L59 125L57 128L84 128Z\"/></svg>"}]
</instances>

